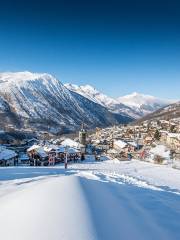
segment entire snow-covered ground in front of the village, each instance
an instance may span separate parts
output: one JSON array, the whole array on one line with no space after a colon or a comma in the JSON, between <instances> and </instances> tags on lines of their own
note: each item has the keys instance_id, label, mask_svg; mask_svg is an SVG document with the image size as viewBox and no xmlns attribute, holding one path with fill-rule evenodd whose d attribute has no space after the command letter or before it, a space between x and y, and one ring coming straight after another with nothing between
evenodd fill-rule
<instances>
[{"instance_id":1,"label":"entire snow-covered ground in front of the village","mask_svg":"<svg viewBox=\"0 0 180 240\"><path fill-rule=\"evenodd\" d=\"M180 171L137 160L0 168L0 239L176 240Z\"/></svg>"}]
</instances>

